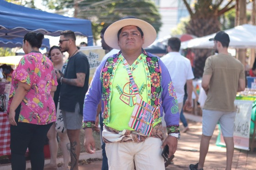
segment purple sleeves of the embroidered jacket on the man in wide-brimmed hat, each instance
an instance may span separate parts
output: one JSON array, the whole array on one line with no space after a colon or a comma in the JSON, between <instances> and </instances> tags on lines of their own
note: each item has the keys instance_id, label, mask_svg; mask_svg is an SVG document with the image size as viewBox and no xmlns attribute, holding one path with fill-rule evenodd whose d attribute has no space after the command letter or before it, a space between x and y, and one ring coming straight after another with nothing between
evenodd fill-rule
<instances>
[{"instance_id":1,"label":"purple sleeves of the embroidered jacket on the man in wide-brimmed hat","mask_svg":"<svg viewBox=\"0 0 256 170\"><path fill-rule=\"evenodd\" d=\"M178 103L176 99L176 93L174 90L173 83L171 82L170 74L165 67L165 64L160 60L159 57L156 57L150 53L142 51L145 55L147 55L147 61L150 62L151 58L154 57L158 60L158 68L160 70L160 87L161 92L159 95L159 103L160 103L160 117L163 116L163 111L165 112L165 122L168 133L178 133L179 132L179 111L178 111ZM115 61L115 58L118 57L118 54L112 55L109 58L113 58ZM153 59L153 58L152 58ZM93 79L91 81L91 85L89 87L89 90L87 91L85 95L85 103L84 103L84 123L90 124L90 126L85 125L85 128L91 128L91 124L95 123L96 119L96 110L98 103L101 101L101 110L102 113L104 111L104 108L107 105L107 100L104 100L102 95L102 70L107 67L106 60L102 61L100 66L97 67L96 72L93 76ZM155 68L156 69L156 68ZM159 71L158 70L158 71ZM101 100L101 98L103 100ZM108 105L109 106L109 105ZM106 109L105 109L106 110ZM108 113L111 116L111 113ZM107 121L104 119L104 121Z\"/></svg>"}]
</instances>

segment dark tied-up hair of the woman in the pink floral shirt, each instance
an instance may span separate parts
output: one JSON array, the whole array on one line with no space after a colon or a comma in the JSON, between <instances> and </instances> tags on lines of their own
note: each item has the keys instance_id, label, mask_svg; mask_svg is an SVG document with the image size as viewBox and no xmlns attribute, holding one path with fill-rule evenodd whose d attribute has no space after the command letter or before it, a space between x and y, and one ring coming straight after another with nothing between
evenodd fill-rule
<instances>
[{"instance_id":1,"label":"dark tied-up hair of the woman in the pink floral shirt","mask_svg":"<svg viewBox=\"0 0 256 170\"><path fill-rule=\"evenodd\" d=\"M28 32L23 39L23 42L27 40L32 47L40 48L42 46L44 35L40 32L33 31Z\"/></svg>"}]
</instances>

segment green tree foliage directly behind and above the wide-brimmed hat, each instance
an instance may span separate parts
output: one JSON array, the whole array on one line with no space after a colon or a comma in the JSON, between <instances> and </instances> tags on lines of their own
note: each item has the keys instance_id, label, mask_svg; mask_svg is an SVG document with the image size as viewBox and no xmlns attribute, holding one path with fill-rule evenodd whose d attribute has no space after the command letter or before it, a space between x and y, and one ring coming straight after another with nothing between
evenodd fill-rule
<instances>
[{"instance_id":1,"label":"green tree foliage directly behind and above the wide-brimmed hat","mask_svg":"<svg viewBox=\"0 0 256 170\"><path fill-rule=\"evenodd\" d=\"M49 9L76 9L77 18L92 22L93 36L99 38L104 26L126 15L149 22L158 32L161 27L160 13L152 0L43 0Z\"/></svg>"}]
</instances>

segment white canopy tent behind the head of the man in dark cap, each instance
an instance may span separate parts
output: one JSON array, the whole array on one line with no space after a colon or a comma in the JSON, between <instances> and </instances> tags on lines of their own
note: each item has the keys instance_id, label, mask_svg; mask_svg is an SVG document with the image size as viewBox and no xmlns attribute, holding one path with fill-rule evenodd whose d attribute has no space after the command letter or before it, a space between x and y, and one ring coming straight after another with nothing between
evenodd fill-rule
<instances>
[{"instance_id":1,"label":"white canopy tent behind the head of the man in dark cap","mask_svg":"<svg viewBox=\"0 0 256 170\"><path fill-rule=\"evenodd\" d=\"M244 24L224 31L229 35L229 47L256 48L256 26ZM209 39L213 38L215 35L216 33L181 42L181 49L213 48L213 41L209 41Z\"/></svg>"}]
</instances>

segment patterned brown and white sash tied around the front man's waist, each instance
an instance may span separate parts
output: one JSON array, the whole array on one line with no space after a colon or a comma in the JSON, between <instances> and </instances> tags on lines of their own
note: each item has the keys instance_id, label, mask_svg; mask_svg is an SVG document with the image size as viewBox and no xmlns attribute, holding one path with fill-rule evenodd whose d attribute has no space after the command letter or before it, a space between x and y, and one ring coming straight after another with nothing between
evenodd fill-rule
<instances>
[{"instance_id":1,"label":"patterned brown and white sash tied around the front man's waist","mask_svg":"<svg viewBox=\"0 0 256 170\"><path fill-rule=\"evenodd\" d=\"M123 130L119 131L104 125L102 131L102 139L105 143L111 142L143 142L148 136L144 136L143 134L137 131L131 130ZM162 124L159 123L155 125L152 129L152 133L150 137L164 139L164 132Z\"/></svg>"}]
</instances>

